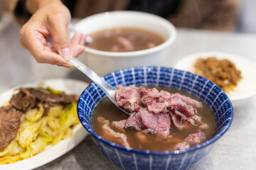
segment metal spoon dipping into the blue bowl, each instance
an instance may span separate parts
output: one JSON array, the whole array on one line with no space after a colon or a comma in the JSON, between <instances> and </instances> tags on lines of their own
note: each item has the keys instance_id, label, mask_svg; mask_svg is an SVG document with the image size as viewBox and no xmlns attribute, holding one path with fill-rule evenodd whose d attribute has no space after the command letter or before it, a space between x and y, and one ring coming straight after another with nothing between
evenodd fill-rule
<instances>
[{"instance_id":1,"label":"metal spoon dipping into the blue bowl","mask_svg":"<svg viewBox=\"0 0 256 170\"><path fill-rule=\"evenodd\" d=\"M97 86L99 86L100 89L104 91L107 97L110 98L110 100L115 104L115 106L121 109L124 113L127 113L128 115L130 115L130 113L128 113L124 108L121 108L117 104L117 101L115 99L115 93L117 91L117 88L115 88L114 86L111 86L110 84L107 84L105 79L97 75L95 72L92 71L92 69L87 67L77 58L73 57L71 60L69 60L69 62L73 64L73 66L75 66L77 69L79 69L82 73L87 75L87 77L89 77L92 81L94 81L95 84L97 84Z\"/></svg>"}]
</instances>

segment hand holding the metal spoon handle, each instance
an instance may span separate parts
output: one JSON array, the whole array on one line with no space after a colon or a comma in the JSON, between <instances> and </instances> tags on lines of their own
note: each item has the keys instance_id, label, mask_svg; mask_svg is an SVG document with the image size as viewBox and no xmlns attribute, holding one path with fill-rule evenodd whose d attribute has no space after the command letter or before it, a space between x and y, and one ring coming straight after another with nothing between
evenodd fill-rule
<instances>
[{"instance_id":1,"label":"hand holding the metal spoon handle","mask_svg":"<svg viewBox=\"0 0 256 170\"><path fill-rule=\"evenodd\" d=\"M21 28L21 47L27 49L38 63L72 67L68 60L84 51L86 35L76 33L71 41L68 39L71 16L61 1L37 2L33 16Z\"/></svg>"}]
</instances>

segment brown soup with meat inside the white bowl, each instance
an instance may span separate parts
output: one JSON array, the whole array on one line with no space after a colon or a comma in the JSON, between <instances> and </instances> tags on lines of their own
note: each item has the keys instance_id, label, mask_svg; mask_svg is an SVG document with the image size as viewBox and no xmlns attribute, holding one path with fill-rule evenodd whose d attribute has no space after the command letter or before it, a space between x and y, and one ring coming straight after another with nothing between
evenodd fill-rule
<instances>
[{"instance_id":1,"label":"brown soup with meat inside the white bowl","mask_svg":"<svg viewBox=\"0 0 256 170\"><path fill-rule=\"evenodd\" d=\"M165 39L142 28L111 28L90 35L92 42L87 47L108 52L132 52L160 45Z\"/></svg>"}]
</instances>

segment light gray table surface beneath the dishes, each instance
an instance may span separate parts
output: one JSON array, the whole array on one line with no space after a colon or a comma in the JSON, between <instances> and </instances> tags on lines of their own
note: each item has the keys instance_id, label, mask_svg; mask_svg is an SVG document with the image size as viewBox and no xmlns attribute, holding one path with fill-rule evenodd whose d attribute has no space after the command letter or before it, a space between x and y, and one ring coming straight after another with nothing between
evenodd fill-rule
<instances>
[{"instance_id":1,"label":"light gray table surface beneath the dishes","mask_svg":"<svg viewBox=\"0 0 256 170\"><path fill-rule=\"evenodd\" d=\"M9 17L0 23L0 92L11 87L51 78L88 81L76 69L38 64L28 51L19 47L20 27ZM244 56L256 62L256 35L220 33L209 30L178 28L178 36L162 66L172 67L181 57L195 52L220 51ZM256 76L256 75L255 75ZM213 150L192 169L256 169L256 98L235 108L228 132ZM98 151L90 136L67 154L43 169L119 169Z\"/></svg>"}]
</instances>

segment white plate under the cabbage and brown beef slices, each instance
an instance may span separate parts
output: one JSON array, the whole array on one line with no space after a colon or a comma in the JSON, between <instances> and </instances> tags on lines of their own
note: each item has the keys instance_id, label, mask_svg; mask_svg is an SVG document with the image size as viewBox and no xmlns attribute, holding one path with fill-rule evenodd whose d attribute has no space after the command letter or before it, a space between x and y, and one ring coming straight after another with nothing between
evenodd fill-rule
<instances>
[{"instance_id":1,"label":"white plate under the cabbage and brown beef slices","mask_svg":"<svg viewBox=\"0 0 256 170\"><path fill-rule=\"evenodd\" d=\"M65 91L67 94L82 94L82 91L88 86L84 81L78 81L75 79L48 79L40 82L34 82L31 84L24 84L22 87L36 87L38 83L43 82L46 86L50 86L53 89ZM19 87L19 86L18 86ZM16 87L16 88L18 88ZM14 88L14 89L16 89ZM6 101L9 101L11 95L14 93L14 89L10 89L0 94L0 106L2 106ZM57 145L53 147L47 147L45 151L35 156L24 159L13 164L0 165L0 170L10 170L10 169L35 169L38 166L47 164L48 162L53 161L54 159L62 156L66 152L73 149L78 145L87 135L87 131L82 127L81 124L78 124L73 129L73 136L60 141Z\"/></svg>"}]
</instances>

